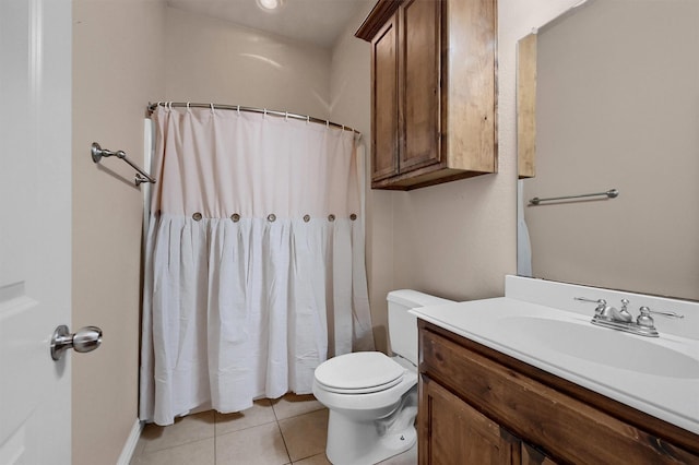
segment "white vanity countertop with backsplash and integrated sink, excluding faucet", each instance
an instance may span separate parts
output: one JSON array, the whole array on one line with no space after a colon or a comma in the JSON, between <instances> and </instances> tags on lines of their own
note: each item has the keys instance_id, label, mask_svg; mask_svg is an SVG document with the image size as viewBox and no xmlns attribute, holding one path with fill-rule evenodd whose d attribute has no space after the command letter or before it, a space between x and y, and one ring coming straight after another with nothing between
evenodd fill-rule
<instances>
[{"instance_id":1,"label":"white vanity countertop with backsplash and integrated sink, excluding faucet","mask_svg":"<svg viewBox=\"0 0 699 465\"><path fill-rule=\"evenodd\" d=\"M518 279L514 285L510 283L512 278ZM673 309L679 309L686 315L682 324L673 322L679 330L664 332L667 323L659 317L655 321L661 337L648 338L591 324L594 305L576 307L576 302L571 311L571 308L554 308L521 299L528 298L521 286L550 287L557 283L537 279L526 283L519 281L526 278L512 276L508 279L508 297L423 307L412 312L463 337L699 434L699 338L687 337L699 330L699 326L695 329L699 303L670 300ZM573 301L573 295L606 298L609 302L615 297L628 298L630 295L603 289L606 294L599 297L600 289L596 288L564 286L572 294L562 297L564 290L555 289L560 302ZM517 291L510 291L513 288ZM537 296L537 300L544 299L542 290L546 289L534 289L532 295ZM640 299L639 295L630 296L632 302L633 298ZM654 306L651 308L657 308L659 302L653 301L657 298L642 297L650 300L641 305L651 303ZM667 309L668 299L661 300ZM636 306L629 306L631 308L636 309Z\"/></svg>"}]
</instances>

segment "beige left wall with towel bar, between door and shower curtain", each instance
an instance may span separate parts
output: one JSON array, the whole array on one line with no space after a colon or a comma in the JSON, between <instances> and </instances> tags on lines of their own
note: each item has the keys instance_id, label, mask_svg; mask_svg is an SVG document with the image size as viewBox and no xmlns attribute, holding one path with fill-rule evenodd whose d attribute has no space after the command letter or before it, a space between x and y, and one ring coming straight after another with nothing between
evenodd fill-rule
<instances>
[{"instance_id":1,"label":"beige left wall with towel bar, between door and shower curtain","mask_svg":"<svg viewBox=\"0 0 699 465\"><path fill-rule=\"evenodd\" d=\"M116 158L93 164L90 144L143 160L143 116L163 96L164 4L73 0L73 315L102 347L73 354L73 464L117 462L137 419L143 198Z\"/></svg>"}]
</instances>

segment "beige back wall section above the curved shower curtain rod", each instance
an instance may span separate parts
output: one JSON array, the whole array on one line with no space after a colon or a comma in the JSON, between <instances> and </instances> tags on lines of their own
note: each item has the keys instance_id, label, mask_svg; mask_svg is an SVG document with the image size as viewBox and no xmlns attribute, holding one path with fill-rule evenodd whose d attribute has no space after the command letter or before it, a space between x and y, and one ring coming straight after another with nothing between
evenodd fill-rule
<instances>
[{"instance_id":1,"label":"beige back wall section above the curved shower curtain rod","mask_svg":"<svg viewBox=\"0 0 699 465\"><path fill-rule=\"evenodd\" d=\"M330 115L330 51L167 8L165 95Z\"/></svg>"}]
</instances>

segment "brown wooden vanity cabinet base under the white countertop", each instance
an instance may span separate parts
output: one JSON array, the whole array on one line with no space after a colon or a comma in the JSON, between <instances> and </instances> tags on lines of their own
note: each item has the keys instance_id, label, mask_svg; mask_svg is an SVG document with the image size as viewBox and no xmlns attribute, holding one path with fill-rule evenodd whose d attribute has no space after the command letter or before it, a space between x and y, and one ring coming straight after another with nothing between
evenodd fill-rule
<instances>
[{"instance_id":1,"label":"brown wooden vanity cabinet base under the white countertop","mask_svg":"<svg viewBox=\"0 0 699 465\"><path fill-rule=\"evenodd\" d=\"M426 464L699 464L699 436L419 321Z\"/></svg>"}]
</instances>

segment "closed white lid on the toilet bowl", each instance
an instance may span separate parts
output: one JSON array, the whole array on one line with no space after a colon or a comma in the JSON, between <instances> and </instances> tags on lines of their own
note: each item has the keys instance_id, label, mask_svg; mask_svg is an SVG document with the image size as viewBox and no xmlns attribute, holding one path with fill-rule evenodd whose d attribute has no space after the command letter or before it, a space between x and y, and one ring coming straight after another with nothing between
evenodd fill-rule
<instances>
[{"instance_id":1,"label":"closed white lid on the toilet bowl","mask_svg":"<svg viewBox=\"0 0 699 465\"><path fill-rule=\"evenodd\" d=\"M405 369L380 351L341 355L316 369L316 381L328 391L367 394L400 383Z\"/></svg>"}]
</instances>

